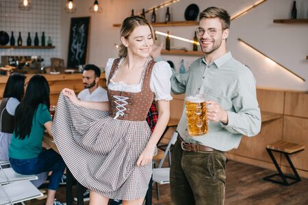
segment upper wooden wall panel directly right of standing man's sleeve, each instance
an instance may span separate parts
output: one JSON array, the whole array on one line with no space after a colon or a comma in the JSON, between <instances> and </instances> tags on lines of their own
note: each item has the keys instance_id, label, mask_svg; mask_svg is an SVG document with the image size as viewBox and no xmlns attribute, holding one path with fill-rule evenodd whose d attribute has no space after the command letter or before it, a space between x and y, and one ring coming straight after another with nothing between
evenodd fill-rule
<instances>
[{"instance_id":1,"label":"upper wooden wall panel directly right of standing man's sleeve","mask_svg":"<svg viewBox=\"0 0 308 205\"><path fill-rule=\"evenodd\" d=\"M281 90L257 89L261 111L283 114L284 92Z\"/></svg>"}]
</instances>

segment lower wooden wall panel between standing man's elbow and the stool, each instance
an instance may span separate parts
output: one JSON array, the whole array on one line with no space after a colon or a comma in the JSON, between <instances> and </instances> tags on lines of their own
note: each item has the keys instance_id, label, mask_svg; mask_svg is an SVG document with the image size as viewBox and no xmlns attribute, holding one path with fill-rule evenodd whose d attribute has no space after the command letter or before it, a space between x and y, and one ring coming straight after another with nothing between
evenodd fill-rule
<instances>
[{"instance_id":1,"label":"lower wooden wall panel between standing man's elbow and the stool","mask_svg":"<svg viewBox=\"0 0 308 205\"><path fill-rule=\"evenodd\" d=\"M255 137L242 137L242 141L235 154L249 159L258 159L260 161L272 162L266 146L269 143L280 141L283 136L283 118L264 122L261 126L261 132ZM274 153L277 161L280 163L280 154ZM247 159L248 160L248 159Z\"/></svg>"}]
</instances>

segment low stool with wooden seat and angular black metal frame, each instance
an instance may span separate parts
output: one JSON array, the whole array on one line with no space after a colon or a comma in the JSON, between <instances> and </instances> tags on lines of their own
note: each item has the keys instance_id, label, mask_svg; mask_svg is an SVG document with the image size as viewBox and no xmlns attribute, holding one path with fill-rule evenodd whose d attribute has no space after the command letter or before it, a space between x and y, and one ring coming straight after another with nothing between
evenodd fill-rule
<instances>
[{"instance_id":1,"label":"low stool with wooden seat and angular black metal frame","mask_svg":"<svg viewBox=\"0 0 308 205\"><path fill-rule=\"evenodd\" d=\"M266 181L274 182L274 183L277 183L277 184L282 184L282 185L285 185L285 186L289 186L290 184L294 184L296 182L299 182L301 180L300 176L296 172L296 169L295 169L289 155L297 153L297 152L301 152L303 150L305 150L305 146L297 144L297 143L287 142L287 141L278 141L276 143L272 143L272 144L269 144L268 146L266 146L266 151L268 151L268 154L270 155L270 159L272 159L272 162L274 163L278 173L272 174L270 176L266 176L263 179L266 180ZM287 162L289 163L294 175L283 174L283 172L281 171L281 168L279 167L279 165L278 165L276 159L274 158L274 155L272 154L272 152L280 152L280 153L283 153L285 155L285 159L287 159ZM274 177L274 176L280 176L282 181L272 179L272 177ZM287 178L291 179L292 182L288 182Z\"/></svg>"}]
</instances>

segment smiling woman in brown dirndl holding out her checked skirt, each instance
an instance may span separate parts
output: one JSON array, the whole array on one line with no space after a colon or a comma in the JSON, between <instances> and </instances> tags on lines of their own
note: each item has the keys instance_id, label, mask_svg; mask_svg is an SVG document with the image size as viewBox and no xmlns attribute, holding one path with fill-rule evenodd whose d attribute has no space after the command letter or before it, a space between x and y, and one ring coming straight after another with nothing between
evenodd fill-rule
<instances>
[{"instance_id":1,"label":"smiling woman in brown dirndl holding out her checked skirt","mask_svg":"<svg viewBox=\"0 0 308 205\"><path fill-rule=\"evenodd\" d=\"M52 129L70 172L91 190L90 204L107 204L109 198L142 204L156 143L169 120L172 72L168 63L150 57L153 28L131 16L120 36L120 58L109 59L105 68L110 101L79 101L64 89ZM151 134L145 119L154 97L159 118Z\"/></svg>"}]
</instances>

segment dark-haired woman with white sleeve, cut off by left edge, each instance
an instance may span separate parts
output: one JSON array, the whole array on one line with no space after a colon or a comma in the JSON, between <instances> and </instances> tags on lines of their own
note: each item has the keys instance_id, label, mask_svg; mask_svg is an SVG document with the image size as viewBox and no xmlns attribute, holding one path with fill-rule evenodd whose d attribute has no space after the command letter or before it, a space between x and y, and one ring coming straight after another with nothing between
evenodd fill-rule
<instances>
[{"instance_id":1,"label":"dark-haired woman with white sleeve, cut off by left edge","mask_svg":"<svg viewBox=\"0 0 308 205\"><path fill-rule=\"evenodd\" d=\"M15 73L8 78L0 105L0 161L8 161L8 148L14 131L15 109L24 94L25 75Z\"/></svg>"}]
</instances>

